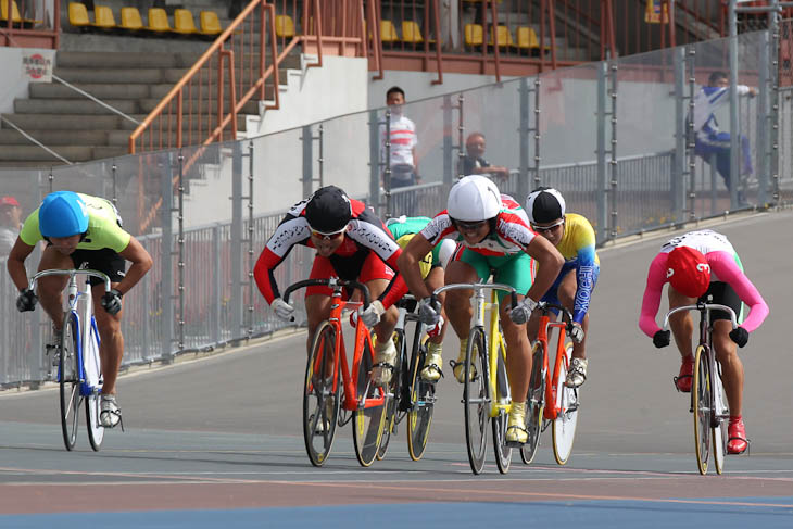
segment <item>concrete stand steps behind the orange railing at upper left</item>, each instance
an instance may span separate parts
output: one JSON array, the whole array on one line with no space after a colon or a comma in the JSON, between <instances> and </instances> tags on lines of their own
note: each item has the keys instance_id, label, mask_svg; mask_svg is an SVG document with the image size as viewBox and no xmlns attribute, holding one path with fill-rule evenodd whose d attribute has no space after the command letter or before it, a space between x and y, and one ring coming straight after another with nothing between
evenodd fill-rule
<instances>
[{"instance_id":1,"label":"concrete stand steps behind the orange railing at upper left","mask_svg":"<svg viewBox=\"0 0 793 529\"><path fill-rule=\"evenodd\" d=\"M212 9L221 15L224 27L229 23L224 1L169 3L187 7L196 14L202 9ZM128 2L109 0L102 4L114 10L118 22L121 7ZM68 17L65 12L63 15L64 33L55 58L54 76L137 122L146 118L211 45L199 39L70 32L75 28L67 27ZM286 68L299 67L299 54L288 58L280 71L281 83L286 83ZM265 87L265 99L274 98L274 89L272 83ZM204 116L207 110L203 109ZM257 102L250 101L244 112L259 114ZM29 97L16 99L13 114L2 114L2 117L73 163L126 154L128 137L137 127L134 122L55 79L51 84L32 84ZM244 115L239 116L237 126L238 130L244 131ZM9 125L2 123L0 127L0 166L49 167L64 163ZM200 140L197 133L193 138L194 142Z\"/></svg>"}]
</instances>

